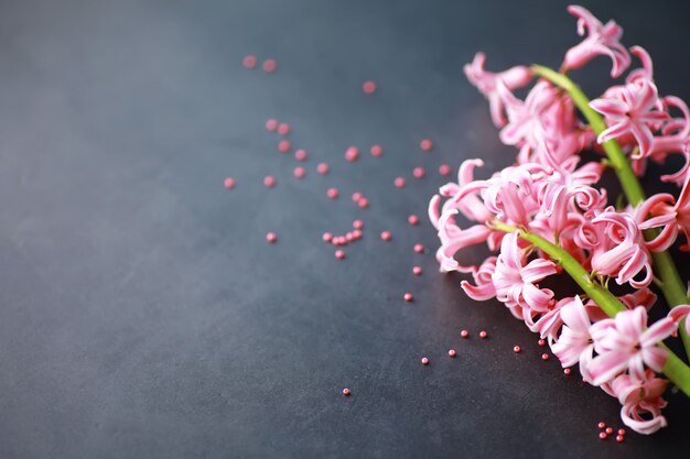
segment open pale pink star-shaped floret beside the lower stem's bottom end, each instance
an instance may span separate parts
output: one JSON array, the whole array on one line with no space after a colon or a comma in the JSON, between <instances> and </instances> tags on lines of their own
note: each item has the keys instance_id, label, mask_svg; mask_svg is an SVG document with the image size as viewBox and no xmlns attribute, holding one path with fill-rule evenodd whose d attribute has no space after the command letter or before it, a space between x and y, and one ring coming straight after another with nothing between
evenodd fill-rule
<instances>
[{"instance_id":1,"label":"open pale pink star-shaped floret beside the lower stem's bottom end","mask_svg":"<svg viewBox=\"0 0 690 459\"><path fill-rule=\"evenodd\" d=\"M675 330L676 324L670 318L647 328L647 310L643 306L592 325L590 334L599 354L587 365L592 384L604 384L625 371L643 380L645 365L661 371L668 352L658 343Z\"/></svg>"}]
</instances>

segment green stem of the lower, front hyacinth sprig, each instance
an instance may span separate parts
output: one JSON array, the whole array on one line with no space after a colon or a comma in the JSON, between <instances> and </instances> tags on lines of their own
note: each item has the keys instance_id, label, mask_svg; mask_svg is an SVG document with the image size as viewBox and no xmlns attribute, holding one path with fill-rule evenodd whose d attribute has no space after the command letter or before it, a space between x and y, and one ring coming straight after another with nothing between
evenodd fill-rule
<instances>
[{"instance_id":1,"label":"green stem of the lower, front hyacinth sprig","mask_svg":"<svg viewBox=\"0 0 690 459\"><path fill-rule=\"evenodd\" d=\"M621 303L616 296L607 288L592 282L591 274L582 267L580 262L575 260L565 250L556 245L540 236L504 223L503 221L492 221L489 226L503 232L517 232L518 237L530 242L536 248L548 254L551 260L563 266L563 270L582 287L585 294L592 298L606 315L615 317L622 310L627 308ZM686 395L690 396L690 367L678 358L666 345L660 343L668 351L668 358L664 365L664 374L673 382Z\"/></svg>"}]
</instances>

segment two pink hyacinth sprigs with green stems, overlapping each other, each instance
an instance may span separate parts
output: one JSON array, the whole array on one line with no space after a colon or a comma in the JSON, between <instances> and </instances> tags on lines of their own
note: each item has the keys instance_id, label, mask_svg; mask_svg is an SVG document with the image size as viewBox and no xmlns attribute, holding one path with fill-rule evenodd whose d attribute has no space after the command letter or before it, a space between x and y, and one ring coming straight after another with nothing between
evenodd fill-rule
<instances>
[{"instance_id":1,"label":"two pink hyacinth sprigs with green stems, overlapping each other","mask_svg":"<svg viewBox=\"0 0 690 459\"><path fill-rule=\"evenodd\" d=\"M625 425L651 434L667 424L661 409L669 384L690 396L690 368L664 343L680 336L690 351L690 302L669 253L677 241L690 250L690 111L680 98L659 95L650 56L624 46L618 24L578 6L568 11L583 39L559 70L533 65L493 73L482 53L465 66L502 142L517 155L487 179L474 177L481 160L465 161L457 182L431 198L436 259L442 272L467 275L461 286L470 297L498 299L549 343L563 368L576 365L585 382L618 398ZM590 100L568 73L597 56L612 61L614 84ZM633 62L639 65L624 76ZM518 98L515 90L528 85ZM657 179L676 184L678 193L647 197L646 165L671 156L684 165ZM601 186L607 168L624 192L617 204ZM493 255L464 263L460 252L478 244ZM542 286L553 276L572 277L581 292L563 296ZM648 310L661 303L655 286L669 312L651 323Z\"/></svg>"}]
</instances>

